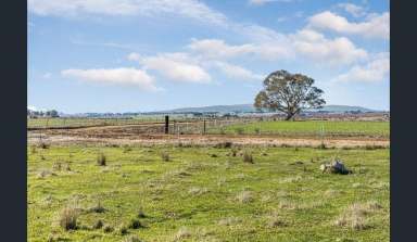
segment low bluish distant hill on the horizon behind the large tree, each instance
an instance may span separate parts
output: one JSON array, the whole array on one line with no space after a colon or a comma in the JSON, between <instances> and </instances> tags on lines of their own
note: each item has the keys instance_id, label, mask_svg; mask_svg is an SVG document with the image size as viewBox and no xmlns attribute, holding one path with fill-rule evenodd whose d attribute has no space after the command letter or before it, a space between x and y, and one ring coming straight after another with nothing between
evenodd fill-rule
<instances>
[{"instance_id":1,"label":"low bluish distant hill on the horizon behind the large tree","mask_svg":"<svg viewBox=\"0 0 417 242\"><path fill-rule=\"evenodd\" d=\"M349 105L326 105L320 111L329 113L344 113L344 112L377 112L375 110L366 109L363 106L349 106ZM251 113L257 112L252 104L235 104L235 105L214 105L214 106L200 106L200 107L182 107L175 110L161 111L159 113ZM309 112L317 112L317 110L309 110Z\"/></svg>"}]
</instances>

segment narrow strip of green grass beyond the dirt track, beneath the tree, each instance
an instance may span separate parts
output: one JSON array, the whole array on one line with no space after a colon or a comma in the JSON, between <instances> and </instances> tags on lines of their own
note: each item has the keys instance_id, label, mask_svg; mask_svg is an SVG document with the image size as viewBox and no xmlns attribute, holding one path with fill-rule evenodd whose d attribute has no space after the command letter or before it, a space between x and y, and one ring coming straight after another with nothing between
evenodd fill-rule
<instances>
[{"instance_id":1,"label":"narrow strip of green grass beyond the dirt track, beneath the tree","mask_svg":"<svg viewBox=\"0 0 417 242\"><path fill-rule=\"evenodd\" d=\"M219 132L217 128L208 132ZM225 133L247 135L282 135L282 136L369 136L388 138L390 136L389 122L256 122L242 125L230 125L224 128Z\"/></svg>"}]
</instances>

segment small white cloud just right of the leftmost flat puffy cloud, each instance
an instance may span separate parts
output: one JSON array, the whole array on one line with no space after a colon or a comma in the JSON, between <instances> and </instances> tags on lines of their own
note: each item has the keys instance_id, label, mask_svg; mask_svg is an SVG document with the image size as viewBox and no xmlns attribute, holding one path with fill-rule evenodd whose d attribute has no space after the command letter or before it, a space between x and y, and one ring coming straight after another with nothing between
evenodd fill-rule
<instances>
[{"instance_id":1,"label":"small white cloud just right of the leftmost flat puffy cloud","mask_svg":"<svg viewBox=\"0 0 417 242\"><path fill-rule=\"evenodd\" d=\"M131 55L131 54L130 54ZM186 53L165 53L143 56L139 63L147 69L154 69L164 77L184 82L210 82L211 76Z\"/></svg>"}]
</instances>

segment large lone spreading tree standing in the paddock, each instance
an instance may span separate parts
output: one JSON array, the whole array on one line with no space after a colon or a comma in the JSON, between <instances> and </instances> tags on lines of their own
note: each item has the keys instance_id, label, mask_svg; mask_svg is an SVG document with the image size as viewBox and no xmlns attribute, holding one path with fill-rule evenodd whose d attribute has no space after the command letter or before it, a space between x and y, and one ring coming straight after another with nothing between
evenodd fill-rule
<instances>
[{"instance_id":1,"label":"large lone spreading tree standing in the paddock","mask_svg":"<svg viewBox=\"0 0 417 242\"><path fill-rule=\"evenodd\" d=\"M313 84L313 78L302 74L274 72L265 78L264 89L257 93L254 105L258 110L283 112L289 120L302 110L319 109L326 103L321 99L324 91Z\"/></svg>"}]
</instances>

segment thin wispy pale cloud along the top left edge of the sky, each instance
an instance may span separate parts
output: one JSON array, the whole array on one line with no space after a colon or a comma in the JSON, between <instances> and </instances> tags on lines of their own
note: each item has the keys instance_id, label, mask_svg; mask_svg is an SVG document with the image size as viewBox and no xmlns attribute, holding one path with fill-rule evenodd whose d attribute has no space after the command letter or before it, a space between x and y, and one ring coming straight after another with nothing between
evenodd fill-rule
<instances>
[{"instance_id":1,"label":"thin wispy pale cloud along the top left edge of the sky","mask_svg":"<svg viewBox=\"0 0 417 242\"><path fill-rule=\"evenodd\" d=\"M175 14L223 25L226 16L198 0L28 0L28 11L46 16L152 16Z\"/></svg>"}]
</instances>

